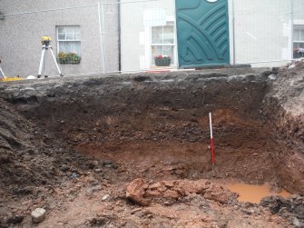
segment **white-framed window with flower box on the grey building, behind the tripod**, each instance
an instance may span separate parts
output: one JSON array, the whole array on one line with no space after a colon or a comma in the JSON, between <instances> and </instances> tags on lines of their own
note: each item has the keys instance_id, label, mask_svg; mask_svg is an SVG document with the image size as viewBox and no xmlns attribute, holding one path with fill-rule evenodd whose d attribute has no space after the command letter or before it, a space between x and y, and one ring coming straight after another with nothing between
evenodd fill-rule
<instances>
[{"instance_id":1,"label":"white-framed window with flower box on the grey building, behind the tripod","mask_svg":"<svg viewBox=\"0 0 304 228\"><path fill-rule=\"evenodd\" d=\"M60 64L80 64L80 26L57 26L57 43Z\"/></svg>"}]
</instances>

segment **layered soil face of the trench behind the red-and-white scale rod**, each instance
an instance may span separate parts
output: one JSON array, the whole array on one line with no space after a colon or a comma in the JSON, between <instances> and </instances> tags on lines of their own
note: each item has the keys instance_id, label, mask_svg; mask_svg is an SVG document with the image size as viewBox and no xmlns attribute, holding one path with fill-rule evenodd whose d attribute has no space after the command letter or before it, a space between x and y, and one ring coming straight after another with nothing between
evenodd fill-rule
<instances>
[{"instance_id":1,"label":"layered soil face of the trench behind the red-and-white scale rod","mask_svg":"<svg viewBox=\"0 0 304 228\"><path fill-rule=\"evenodd\" d=\"M15 84L4 96L26 119L52 134L45 144L56 138L75 153L105 165L110 161L108 165L120 167L116 178L121 181L211 178L270 183L277 192L303 193L303 142L290 143L294 134L303 136L302 130L291 117L283 119L288 117L279 100L269 95L270 74L277 72L66 78Z\"/></svg>"}]
</instances>

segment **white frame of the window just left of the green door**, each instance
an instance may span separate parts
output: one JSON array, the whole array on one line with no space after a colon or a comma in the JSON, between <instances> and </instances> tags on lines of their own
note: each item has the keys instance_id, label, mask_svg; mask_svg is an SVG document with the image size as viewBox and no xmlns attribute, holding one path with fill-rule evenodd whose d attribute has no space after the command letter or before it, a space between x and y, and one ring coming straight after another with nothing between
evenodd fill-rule
<instances>
[{"instance_id":1,"label":"white frame of the window just left of the green door","mask_svg":"<svg viewBox=\"0 0 304 228\"><path fill-rule=\"evenodd\" d=\"M167 25L168 23L172 23L172 25ZM160 27L162 26L162 33L163 33L163 26L172 26L173 27L173 40L174 42L172 44L152 44L152 27ZM151 26L150 27L150 65L152 67L155 67L156 65L154 64L154 59L152 58L152 46L173 46L173 56L172 59L174 60L174 64L171 64L170 66L172 67L176 67L177 66L177 58L176 58L176 54L177 54L177 45L176 45L176 25L175 25L175 21L174 20L166 20L166 25L155 25L155 26Z\"/></svg>"}]
</instances>

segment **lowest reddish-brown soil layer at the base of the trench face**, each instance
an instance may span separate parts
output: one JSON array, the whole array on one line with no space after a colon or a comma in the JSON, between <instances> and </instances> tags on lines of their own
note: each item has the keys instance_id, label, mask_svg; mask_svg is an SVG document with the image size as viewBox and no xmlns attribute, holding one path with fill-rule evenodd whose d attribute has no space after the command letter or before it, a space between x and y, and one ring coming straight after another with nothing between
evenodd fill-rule
<instances>
[{"instance_id":1,"label":"lowest reddish-brown soil layer at the base of the trench face","mask_svg":"<svg viewBox=\"0 0 304 228\"><path fill-rule=\"evenodd\" d=\"M124 181L144 177L152 182L176 178L239 179L246 183L265 183L276 180L273 164L259 161L265 154L258 149L216 147L216 167L212 173L211 153L208 144L200 143L123 143L81 145L79 151L96 160L110 160L123 167ZM245 152L244 152L245 151ZM244 155L246 153L247 155ZM250 167L250 170L248 170ZM273 172L271 173L271 170Z\"/></svg>"}]
</instances>

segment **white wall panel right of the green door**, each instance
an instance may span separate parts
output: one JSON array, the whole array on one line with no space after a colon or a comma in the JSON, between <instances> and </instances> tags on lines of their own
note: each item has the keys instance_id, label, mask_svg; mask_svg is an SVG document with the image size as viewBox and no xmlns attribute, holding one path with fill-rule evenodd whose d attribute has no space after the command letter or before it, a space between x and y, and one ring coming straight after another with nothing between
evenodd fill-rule
<instances>
[{"instance_id":1,"label":"white wall panel right of the green door","mask_svg":"<svg viewBox=\"0 0 304 228\"><path fill-rule=\"evenodd\" d=\"M291 58L290 2L234 0L236 62Z\"/></svg>"}]
</instances>

